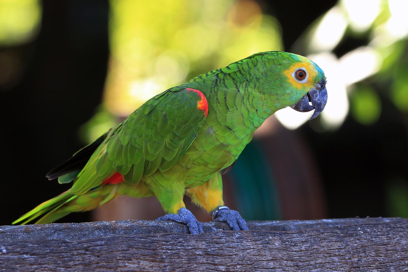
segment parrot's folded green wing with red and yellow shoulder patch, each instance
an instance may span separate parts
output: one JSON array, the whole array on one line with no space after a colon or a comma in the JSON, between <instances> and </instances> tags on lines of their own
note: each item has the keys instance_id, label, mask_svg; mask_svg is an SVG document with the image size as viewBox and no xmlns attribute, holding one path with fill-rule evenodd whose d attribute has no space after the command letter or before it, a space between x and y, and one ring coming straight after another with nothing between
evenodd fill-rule
<instances>
[{"instance_id":1,"label":"parrot's folded green wing with red and yellow shoulder patch","mask_svg":"<svg viewBox=\"0 0 408 272\"><path fill-rule=\"evenodd\" d=\"M197 90L178 87L156 95L111 130L69 192L81 195L114 172L137 184L142 176L168 170L195 139L207 111Z\"/></svg>"}]
</instances>

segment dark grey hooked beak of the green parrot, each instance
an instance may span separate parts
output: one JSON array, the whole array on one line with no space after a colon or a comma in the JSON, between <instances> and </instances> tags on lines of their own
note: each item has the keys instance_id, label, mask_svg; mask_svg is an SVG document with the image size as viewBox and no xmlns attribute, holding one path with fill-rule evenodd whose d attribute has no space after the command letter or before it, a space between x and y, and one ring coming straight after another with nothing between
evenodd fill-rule
<instances>
[{"instance_id":1,"label":"dark grey hooked beak of the green parrot","mask_svg":"<svg viewBox=\"0 0 408 272\"><path fill-rule=\"evenodd\" d=\"M312 104L310 105L309 102ZM313 115L309 118L309 120L317 117L326 106L327 102L327 91L326 91L326 80L321 80L319 83L315 85L313 89L311 89L301 100L299 100L293 106L290 106L296 111L300 111L302 113L306 111L315 110Z\"/></svg>"}]
</instances>

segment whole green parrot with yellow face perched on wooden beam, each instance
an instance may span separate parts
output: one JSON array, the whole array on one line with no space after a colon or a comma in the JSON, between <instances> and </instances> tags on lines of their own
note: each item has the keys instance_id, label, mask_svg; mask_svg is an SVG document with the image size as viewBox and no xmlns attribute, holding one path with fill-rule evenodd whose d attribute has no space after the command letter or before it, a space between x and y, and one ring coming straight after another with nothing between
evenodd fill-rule
<instances>
[{"instance_id":1,"label":"whole green parrot with yellow face perched on wooden beam","mask_svg":"<svg viewBox=\"0 0 408 272\"><path fill-rule=\"evenodd\" d=\"M124 122L51 170L48 179L71 189L13 222L51 223L92 210L120 195L155 196L167 213L158 220L202 226L183 197L233 230L248 230L224 206L222 177L266 118L291 106L301 112L326 105L326 77L306 57L280 51L251 55L156 95Z\"/></svg>"}]
</instances>

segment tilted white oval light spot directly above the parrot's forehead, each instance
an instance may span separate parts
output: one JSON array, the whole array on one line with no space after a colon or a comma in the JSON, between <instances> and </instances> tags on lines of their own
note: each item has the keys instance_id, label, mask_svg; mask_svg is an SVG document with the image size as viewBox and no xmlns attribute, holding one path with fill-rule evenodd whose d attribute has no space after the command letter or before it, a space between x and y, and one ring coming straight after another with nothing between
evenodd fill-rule
<instances>
[{"instance_id":1,"label":"tilted white oval light spot directly above the parrot's forehead","mask_svg":"<svg viewBox=\"0 0 408 272\"><path fill-rule=\"evenodd\" d=\"M330 51L340 42L347 21L339 7L330 9L317 24L310 37L310 51Z\"/></svg>"}]
</instances>

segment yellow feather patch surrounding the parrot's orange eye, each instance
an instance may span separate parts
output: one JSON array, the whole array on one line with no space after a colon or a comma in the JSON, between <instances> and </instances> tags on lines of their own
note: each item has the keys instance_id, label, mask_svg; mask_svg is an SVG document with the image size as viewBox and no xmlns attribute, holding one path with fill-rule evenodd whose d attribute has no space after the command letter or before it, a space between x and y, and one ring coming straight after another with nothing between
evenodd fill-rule
<instances>
[{"instance_id":1,"label":"yellow feather patch surrounding the parrot's orange eye","mask_svg":"<svg viewBox=\"0 0 408 272\"><path fill-rule=\"evenodd\" d=\"M284 71L284 75L287 77L288 82L292 84L296 88L313 88L315 85L315 78L318 75L318 72L316 71L315 64L310 62L308 58L303 57L303 56L298 56L300 59L300 62L297 62L290 66L288 70ZM293 73L297 70L303 68L306 70L306 73L308 74L306 81L304 82L298 82L293 78Z\"/></svg>"}]
</instances>

